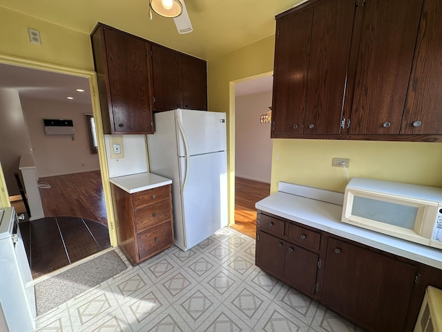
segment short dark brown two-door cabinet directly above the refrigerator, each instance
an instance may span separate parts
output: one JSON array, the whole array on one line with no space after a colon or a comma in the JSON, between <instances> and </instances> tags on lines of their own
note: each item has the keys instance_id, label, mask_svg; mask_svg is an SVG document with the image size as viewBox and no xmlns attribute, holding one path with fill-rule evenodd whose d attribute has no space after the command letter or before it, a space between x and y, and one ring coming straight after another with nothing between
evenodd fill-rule
<instances>
[{"instance_id":1,"label":"short dark brown two-door cabinet directly above the refrigerator","mask_svg":"<svg viewBox=\"0 0 442 332\"><path fill-rule=\"evenodd\" d=\"M155 111L206 110L206 62L158 45L151 50Z\"/></svg>"}]
</instances>

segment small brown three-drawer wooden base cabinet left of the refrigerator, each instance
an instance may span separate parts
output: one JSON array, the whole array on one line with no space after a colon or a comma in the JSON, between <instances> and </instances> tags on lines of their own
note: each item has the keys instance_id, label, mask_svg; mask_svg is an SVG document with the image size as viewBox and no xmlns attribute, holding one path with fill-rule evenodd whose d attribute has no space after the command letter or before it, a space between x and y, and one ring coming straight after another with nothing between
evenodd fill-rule
<instances>
[{"instance_id":1,"label":"small brown three-drawer wooden base cabinet left of the refrigerator","mask_svg":"<svg viewBox=\"0 0 442 332\"><path fill-rule=\"evenodd\" d=\"M171 185L129 194L111 184L119 248L132 265L173 245Z\"/></svg>"}]
</instances>

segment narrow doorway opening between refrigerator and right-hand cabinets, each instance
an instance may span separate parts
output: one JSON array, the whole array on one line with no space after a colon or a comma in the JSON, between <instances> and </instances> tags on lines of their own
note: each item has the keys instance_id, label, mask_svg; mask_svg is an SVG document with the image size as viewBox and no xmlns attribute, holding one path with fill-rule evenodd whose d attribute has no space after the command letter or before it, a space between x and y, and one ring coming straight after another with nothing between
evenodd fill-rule
<instances>
[{"instance_id":1,"label":"narrow doorway opening between refrigerator and right-hand cabinets","mask_svg":"<svg viewBox=\"0 0 442 332\"><path fill-rule=\"evenodd\" d=\"M250 77L235 85L235 224L232 228L255 238L255 203L270 194L270 122L260 116L269 112L273 76Z\"/></svg>"}]
</instances>

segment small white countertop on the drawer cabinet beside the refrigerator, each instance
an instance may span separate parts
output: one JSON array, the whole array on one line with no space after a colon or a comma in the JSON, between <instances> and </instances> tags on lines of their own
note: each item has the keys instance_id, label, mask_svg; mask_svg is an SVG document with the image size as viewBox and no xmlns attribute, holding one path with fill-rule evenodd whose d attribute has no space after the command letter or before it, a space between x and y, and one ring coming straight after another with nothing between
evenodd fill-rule
<instances>
[{"instance_id":1,"label":"small white countertop on the drawer cabinet beside the refrigerator","mask_svg":"<svg viewBox=\"0 0 442 332\"><path fill-rule=\"evenodd\" d=\"M162 185L170 185L172 183L170 178L164 178L163 176L149 172L118 176L116 178L110 178L109 181L129 194L161 187Z\"/></svg>"}]
</instances>

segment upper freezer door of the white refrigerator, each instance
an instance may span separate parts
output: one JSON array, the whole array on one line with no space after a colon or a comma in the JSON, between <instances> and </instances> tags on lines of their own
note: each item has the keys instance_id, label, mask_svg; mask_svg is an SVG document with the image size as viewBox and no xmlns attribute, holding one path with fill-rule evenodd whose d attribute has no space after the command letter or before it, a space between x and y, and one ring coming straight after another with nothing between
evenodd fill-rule
<instances>
[{"instance_id":1,"label":"upper freezer door of the white refrigerator","mask_svg":"<svg viewBox=\"0 0 442 332\"><path fill-rule=\"evenodd\" d=\"M175 116L178 156L226 150L226 113L177 109Z\"/></svg>"}]
</instances>

